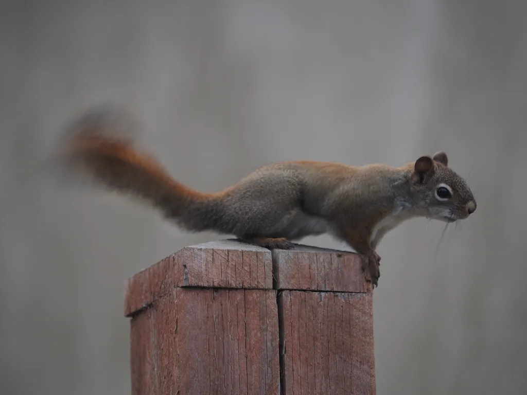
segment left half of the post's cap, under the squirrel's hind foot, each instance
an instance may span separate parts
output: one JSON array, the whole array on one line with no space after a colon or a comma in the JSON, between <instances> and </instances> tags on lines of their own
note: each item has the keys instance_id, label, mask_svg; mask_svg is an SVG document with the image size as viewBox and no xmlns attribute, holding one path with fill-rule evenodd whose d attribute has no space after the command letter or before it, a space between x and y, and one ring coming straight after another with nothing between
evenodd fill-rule
<instances>
[{"instance_id":1,"label":"left half of the post's cap, under the squirrel's hind foot","mask_svg":"<svg viewBox=\"0 0 527 395\"><path fill-rule=\"evenodd\" d=\"M272 289L271 251L236 240L182 248L128 280L125 315L176 287Z\"/></svg>"}]
</instances>

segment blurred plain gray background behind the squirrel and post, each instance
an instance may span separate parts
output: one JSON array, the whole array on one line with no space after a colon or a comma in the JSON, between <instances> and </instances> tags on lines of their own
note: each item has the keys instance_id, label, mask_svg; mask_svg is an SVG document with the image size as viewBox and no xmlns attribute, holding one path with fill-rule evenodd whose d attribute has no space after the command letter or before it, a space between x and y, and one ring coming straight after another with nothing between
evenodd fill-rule
<instances>
[{"instance_id":1,"label":"blurred plain gray background behind the squirrel and post","mask_svg":"<svg viewBox=\"0 0 527 395\"><path fill-rule=\"evenodd\" d=\"M272 161L445 150L478 210L380 244L378 394L527 393L526 19L521 0L4 0L0 392L130 393L124 280L218 238L38 172L112 102L201 191Z\"/></svg>"}]
</instances>

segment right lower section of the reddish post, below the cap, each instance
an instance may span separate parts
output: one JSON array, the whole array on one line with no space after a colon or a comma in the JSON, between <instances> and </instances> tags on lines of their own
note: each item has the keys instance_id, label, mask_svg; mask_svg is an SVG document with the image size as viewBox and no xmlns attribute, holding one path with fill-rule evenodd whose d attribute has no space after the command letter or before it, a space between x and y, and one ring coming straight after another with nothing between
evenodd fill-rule
<instances>
[{"instance_id":1,"label":"right lower section of the reddish post, below the cap","mask_svg":"<svg viewBox=\"0 0 527 395\"><path fill-rule=\"evenodd\" d=\"M278 303L286 394L375 394L371 294L281 291Z\"/></svg>"}]
</instances>

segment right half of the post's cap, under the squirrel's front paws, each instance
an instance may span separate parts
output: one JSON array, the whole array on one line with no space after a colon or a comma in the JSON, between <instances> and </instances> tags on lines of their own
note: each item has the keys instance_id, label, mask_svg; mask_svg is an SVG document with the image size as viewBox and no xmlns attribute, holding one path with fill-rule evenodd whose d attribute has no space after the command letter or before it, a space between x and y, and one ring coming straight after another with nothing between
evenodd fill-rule
<instances>
[{"instance_id":1,"label":"right half of the post's cap, under the squirrel's front paws","mask_svg":"<svg viewBox=\"0 0 527 395\"><path fill-rule=\"evenodd\" d=\"M276 289L371 292L356 253L297 245L273 250Z\"/></svg>"}]
</instances>

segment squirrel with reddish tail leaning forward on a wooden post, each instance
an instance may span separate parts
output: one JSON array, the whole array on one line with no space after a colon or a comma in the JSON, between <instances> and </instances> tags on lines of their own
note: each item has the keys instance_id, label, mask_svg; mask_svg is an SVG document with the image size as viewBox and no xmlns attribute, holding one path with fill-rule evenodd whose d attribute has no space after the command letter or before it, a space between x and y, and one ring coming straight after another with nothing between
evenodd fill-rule
<instances>
[{"instance_id":1,"label":"squirrel with reddish tail leaning forward on a wooden post","mask_svg":"<svg viewBox=\"0 0 527 395\"><path fill-rule=\"evenodd\" d=\"M329 233L361 256L374 288L376 248L388 231L415 217L455 222L476 210L469 186L448 167L444 152L401 167L276 162L220 192L201 193L174 180L132 140L112 135L115 119L102 107L73 122L58 156L70 174L90 175L106 189L135 196L191 232L232 234L268 249L291 249L293 241Z\"/></svg>"}]
</instances>

